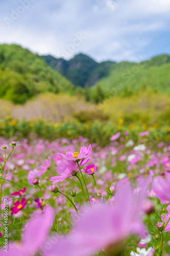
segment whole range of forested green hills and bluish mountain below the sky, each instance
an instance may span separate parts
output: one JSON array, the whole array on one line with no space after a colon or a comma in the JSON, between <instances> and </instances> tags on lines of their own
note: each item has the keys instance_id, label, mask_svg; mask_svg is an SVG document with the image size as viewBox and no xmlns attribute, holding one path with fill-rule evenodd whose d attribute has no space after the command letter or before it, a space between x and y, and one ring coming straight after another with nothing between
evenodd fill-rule
<instances>
[{"instance_id":1,"label":"whole range of forested green hills and bluish mountain below the sky","mask_svg":"<svg viewBox=\"0 0 170 256\"><path fill-rule=\"evenodd\" d=\"M84 54L68 61L50 55L43 58L46 63L38 54L20 46L1 45L0 98L25 103L39 93L71 92L98 104L113 96L129 97L139 91L170 93L168 55L140 63L97 63ZM72 83L78 86L76 90Z\"/></svg>"}]
</instances>

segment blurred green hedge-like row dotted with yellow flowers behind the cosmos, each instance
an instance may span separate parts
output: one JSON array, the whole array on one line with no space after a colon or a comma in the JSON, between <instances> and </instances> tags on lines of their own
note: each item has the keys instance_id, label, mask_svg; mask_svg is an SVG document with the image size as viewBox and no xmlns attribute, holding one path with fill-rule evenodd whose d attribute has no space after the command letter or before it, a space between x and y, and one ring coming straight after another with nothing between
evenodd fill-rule
<instances>
[{"instance_id":1,"label":"blurred green hedge-like row dotted with yellow flowers behind the cosmos","mask_svg":"<svg viewBox=\"0 0 170 256\"><path fill-rule=\"evenodd\" d=\"M90 143L98 143L103 147L110 143L111 136L118 131L122 135L128 132L129 136L133 137L134 141L137 141L139 132L144 131L146 128L148 129L141 122L136 122L133 126L118 126L97 120L82 123L72 119L54 123L42 119L35 121L4 119L0 122L0 136L4 136L5 138L15 136L15 139L26 137L32 139L38 135L38 137L48 140L60 138L73 140L79 136L83 136L84 138L89 138ZM148 142L152 143L153 146L160 141L167 142L170 139L169 126L165 125L164 122L150 126L149 130Z\"/></svg>"}]
</instances>

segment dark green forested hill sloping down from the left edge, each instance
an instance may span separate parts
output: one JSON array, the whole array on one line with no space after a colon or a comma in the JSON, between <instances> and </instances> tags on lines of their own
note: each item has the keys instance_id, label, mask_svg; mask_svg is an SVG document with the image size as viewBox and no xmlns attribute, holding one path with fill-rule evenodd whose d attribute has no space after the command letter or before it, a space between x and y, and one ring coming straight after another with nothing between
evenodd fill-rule
<instances>
[{"instance_id":1,"label":"dark green forested hill sloping down from the left edge","mask_svg":"<svg viewBox=\"0 0 170 256\"><path fill-rule=\"evenodd\" d=\"M0 97L24 103L43 92L62 92L71 82L48 67L37 54L17 45L0 46Z\"/></svg>"}]
</instances>

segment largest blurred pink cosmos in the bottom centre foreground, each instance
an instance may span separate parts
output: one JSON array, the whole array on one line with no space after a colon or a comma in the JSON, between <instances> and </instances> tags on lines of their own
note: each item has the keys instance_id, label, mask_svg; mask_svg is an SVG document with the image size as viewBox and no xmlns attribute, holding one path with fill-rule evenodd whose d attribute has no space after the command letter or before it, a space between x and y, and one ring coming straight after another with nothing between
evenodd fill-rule
<instances>
[{"instance_id":1,"label":"largest blurred pink cosmos in the bottom centre foreground","mask_svg":"<svg viewBox=\"0 0 170 256\"><path fill-rule=\"evenodd\" d=\"M121 188L121 190L120 190ZM145 237L139 198L128 185L119 187L113 205L98 204L79 218L74 232L58 241L49 256L87 256L101 249L112 252L122 248L130 234Z\"/></svg>"}]
</instances>

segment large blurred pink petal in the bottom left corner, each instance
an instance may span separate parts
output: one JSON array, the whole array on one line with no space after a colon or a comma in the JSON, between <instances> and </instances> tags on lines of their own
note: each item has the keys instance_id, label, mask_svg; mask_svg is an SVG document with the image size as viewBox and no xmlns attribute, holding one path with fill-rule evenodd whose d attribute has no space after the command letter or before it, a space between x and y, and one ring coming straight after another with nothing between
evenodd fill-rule
<instances>
[{"instance_id":1,"label":"large blurred pink petal in the bottom left corner","mask_svg":"<svg viewBox=\"0 0 170 256\"><path fill-rule=\"evenodd\" d=\"M53 224L53 210L45 209L41 214L34 216L28 221L28 225L23 231L21 243L9 244L8 253L4 248L0 255L8 256L32 256L44 245L48 231Z\"/></svg>"}]
</instances>

